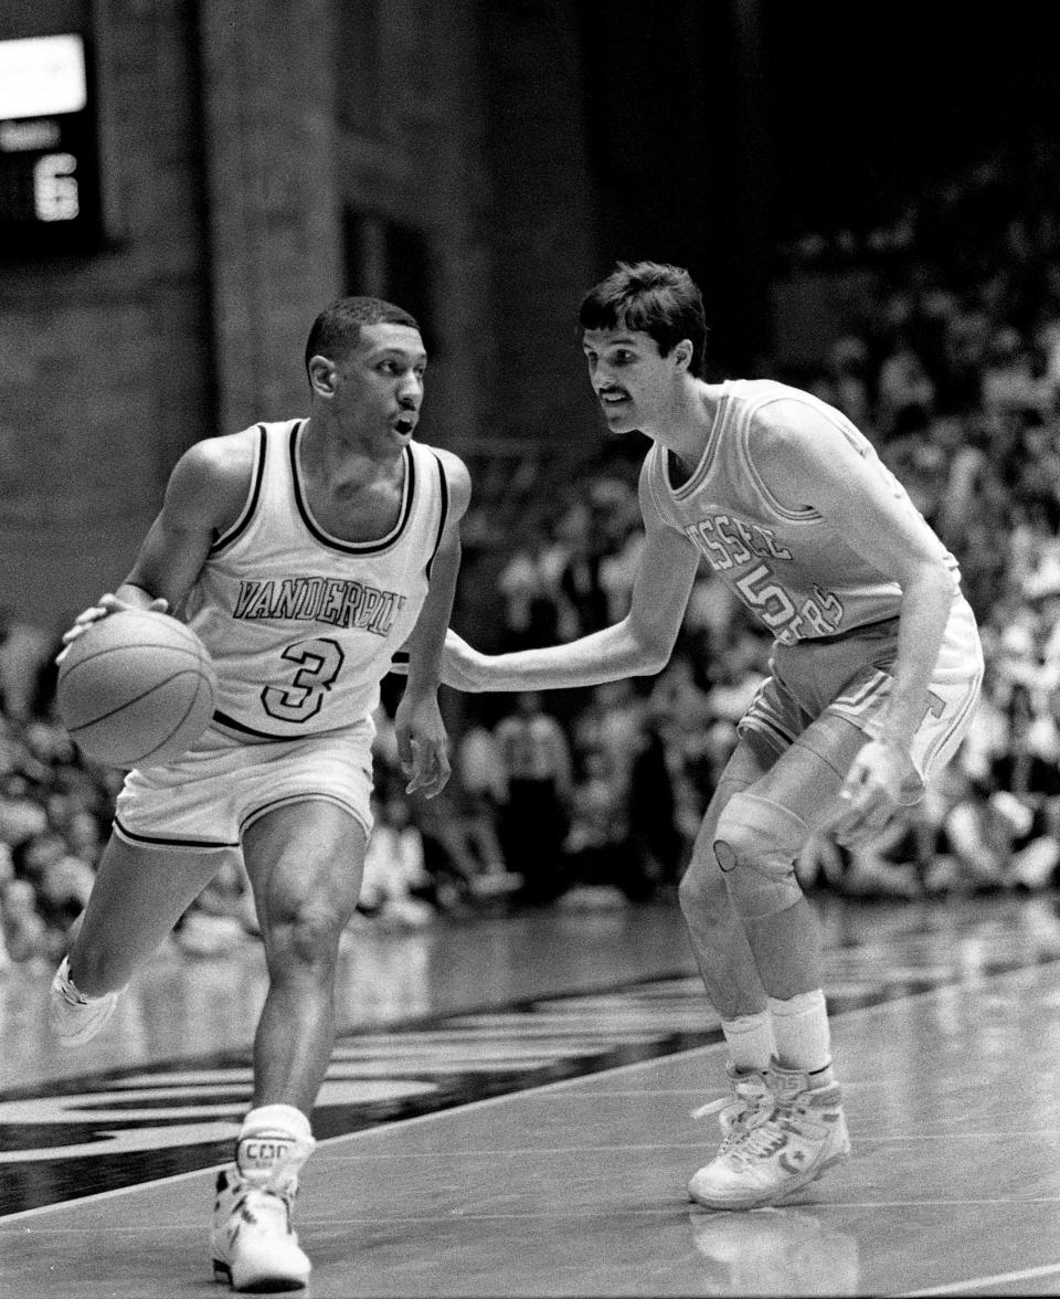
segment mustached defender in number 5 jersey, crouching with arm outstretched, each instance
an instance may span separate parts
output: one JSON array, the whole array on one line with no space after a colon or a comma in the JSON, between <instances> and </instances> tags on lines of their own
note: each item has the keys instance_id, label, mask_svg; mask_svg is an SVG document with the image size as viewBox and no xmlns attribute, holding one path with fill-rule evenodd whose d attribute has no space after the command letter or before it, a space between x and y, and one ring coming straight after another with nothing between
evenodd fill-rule
<instances>
[{"instance_id":1,"label":"mustached defender in number 5 jersey, crouching with arm outstretched","mask_svg":"<svg viewBox=\"0 0 1060 1299\"><path fill-rule=\"evenodd\" d=\"M652 442L630 611L500 656L451 631L443 681L543 690L659 672L700 564L772 633L770 675L679 895L731 1089L721 1148L688 1190L716 1209L777 1204L850 1152L795 859L826 827L868 839L922 795L976 705L976 620L952 555L843 414L782 383L699 378L703 303L685 270L620 264L585 297L581 327L608 429Z\"/></svg>"}]
</instances>

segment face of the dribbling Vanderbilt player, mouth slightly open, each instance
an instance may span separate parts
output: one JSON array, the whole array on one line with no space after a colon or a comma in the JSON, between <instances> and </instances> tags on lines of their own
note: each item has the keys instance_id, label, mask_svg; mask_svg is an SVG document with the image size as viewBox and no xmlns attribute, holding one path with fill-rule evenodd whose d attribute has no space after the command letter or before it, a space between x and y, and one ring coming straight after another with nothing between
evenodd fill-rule
<instances>
[{"instance_id":1,"label":"face of the dribbling Vanderbilt player, mouth slightly open","mask_svg":"<svg viewBox=\"0 0 1060 1299\"><path fill-rule=\"evenodd\" d=\"M408 325L365 325L357 347L329 362L325 395L351 433L405 446L423 401L427 353L420 331ZM321 391L317 387L317 391Z\"/></svg>"}]
</instances>

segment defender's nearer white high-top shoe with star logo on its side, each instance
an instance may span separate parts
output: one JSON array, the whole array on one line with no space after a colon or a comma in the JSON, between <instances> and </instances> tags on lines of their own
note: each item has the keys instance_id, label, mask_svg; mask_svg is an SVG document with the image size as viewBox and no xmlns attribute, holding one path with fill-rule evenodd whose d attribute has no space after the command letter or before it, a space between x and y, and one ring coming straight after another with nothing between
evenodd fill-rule
<instances>
[{"instance_id":1,"label":"defender's nearer white high-top shoe with star logo on its side","mask_svg":"<svg viewBox=\"0 0 1060 1299\"><path fill-rule=\"evenodd\" d=\"M842 1096L831 1069L811 1085L803 1069L773 1063L772 1109L747 1124L692 1177L688 1194L708 1209L779 1204L850 1155Z\"/></svg>"}]
</instances>

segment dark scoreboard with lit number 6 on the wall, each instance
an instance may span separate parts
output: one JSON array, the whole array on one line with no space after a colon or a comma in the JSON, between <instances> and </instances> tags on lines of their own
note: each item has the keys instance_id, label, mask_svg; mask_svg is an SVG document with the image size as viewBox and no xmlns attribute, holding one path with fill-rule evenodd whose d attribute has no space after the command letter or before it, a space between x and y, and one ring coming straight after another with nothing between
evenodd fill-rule
<instances>
[{"instance_id":1,"label":"dark scoreboard with lit number 6 on the wall","mask_svg":"<svg viewBox=\"0 0 1060 1299\"><path fill-rule=\"evenodd\" d=\"M84 38L0 40L0 261L101 244Z\"/></svg>"}]
</instances>

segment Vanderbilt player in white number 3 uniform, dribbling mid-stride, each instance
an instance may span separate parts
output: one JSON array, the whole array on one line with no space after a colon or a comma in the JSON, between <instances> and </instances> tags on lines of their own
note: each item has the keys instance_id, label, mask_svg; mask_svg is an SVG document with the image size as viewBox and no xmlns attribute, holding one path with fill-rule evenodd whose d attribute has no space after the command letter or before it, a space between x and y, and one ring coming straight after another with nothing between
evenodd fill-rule
<instances>
[{"instance_id":1,"label":"Vanderbilt player in white number 3 uniform, dribbling mid-stride","mask_svg":"<svg viewBox=\"0 0 1060 1299\"><path fill-rule=\"evenodd\" d=\"M214 1270L236 1290L309 1274L291 1208L372 829L372 712L401 647L408 791L431 798L449 776L436 691L470 481L413 440L426 360L416 321L388 303L325 310L305 351L309 417L191 447L132 572L66 634L117 608L169 608L217 669L205 735L126 778L51 1018L68 1043L97 1033L225 856L243 853L269 990L253 1108L217 1182Z\"/></svg>"}]
</instances>

